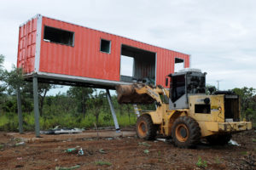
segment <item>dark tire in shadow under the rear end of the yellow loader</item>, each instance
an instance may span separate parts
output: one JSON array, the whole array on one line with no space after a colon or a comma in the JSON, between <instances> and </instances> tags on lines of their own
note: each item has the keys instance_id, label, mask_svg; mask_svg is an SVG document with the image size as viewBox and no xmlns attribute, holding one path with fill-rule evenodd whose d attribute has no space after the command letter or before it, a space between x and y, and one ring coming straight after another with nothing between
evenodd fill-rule
<instances>
[{"instance_id":1,"label":"dark tire in shadow under the rear end of the yellow loader","mask_svg":"<svg viewBox=\"0 0 256 170\"><path fill-rule=\"evenodd\" d=\"M228 144L232 135L230 133L224 134L215 134L211 136L207 136L207 141L212 145L225 145Z\"/></svg>"}]
</instances>

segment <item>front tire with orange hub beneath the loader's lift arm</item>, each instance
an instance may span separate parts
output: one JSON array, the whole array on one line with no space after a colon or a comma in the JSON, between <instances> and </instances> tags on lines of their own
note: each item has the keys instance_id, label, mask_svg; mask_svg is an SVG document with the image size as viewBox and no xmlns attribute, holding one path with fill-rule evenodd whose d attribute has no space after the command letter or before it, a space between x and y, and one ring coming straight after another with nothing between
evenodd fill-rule
<instances>
[{"instance_id":1,"label":"front tire with orange hub beneath the loader's lift arm","mask_svg":"<svg viewBox=\"0 0 256 170\"><path fill-rule=\"evenodd\" d=\"M142 128L143 126L143 128ZM149 115L142 115L137 118L136 132L139 139L153 140L157 132L157 125L154 125Z\"/></svg>"}]
</instances>

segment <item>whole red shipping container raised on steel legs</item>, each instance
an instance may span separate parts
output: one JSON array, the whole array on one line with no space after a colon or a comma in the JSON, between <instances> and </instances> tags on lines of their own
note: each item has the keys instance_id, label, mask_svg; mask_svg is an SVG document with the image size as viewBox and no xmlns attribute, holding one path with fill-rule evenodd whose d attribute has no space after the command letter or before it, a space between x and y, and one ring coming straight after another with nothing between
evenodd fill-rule
<instances>
[{"instance_id":1,"label":"whole red shipping container raised on steel legs","mask_svg":"<svg viewBox=\"0 0 256 170\"><path fill-rule=\"evenodd\" d=\"M121 56L133 61L130 76L121 75ZM189 54L40 14L20 26L17 67L41 82L113 88L143 80L166 87L165 77L180 62L189 67Z\"/></svg>"}]
</instances>

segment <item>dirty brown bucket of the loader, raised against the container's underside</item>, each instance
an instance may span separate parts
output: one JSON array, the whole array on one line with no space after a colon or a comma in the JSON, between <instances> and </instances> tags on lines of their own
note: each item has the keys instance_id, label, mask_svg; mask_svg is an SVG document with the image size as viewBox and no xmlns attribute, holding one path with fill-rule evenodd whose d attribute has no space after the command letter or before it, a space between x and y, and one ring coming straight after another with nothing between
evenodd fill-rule
<instances>
[{"instance_id":1,"label":"dirty brown bucket of the loader, raised against the container's underside","mask_svg":"<svg viewBox=\"0 0 256 170\"><path fill-rule=\"evenodd\" d=\"M118 94L119 104L152 104L154 99L148 94L138 94L136 89L143 88L143 85L118 85L115 87Z\"/></svg>"}]
</instances>

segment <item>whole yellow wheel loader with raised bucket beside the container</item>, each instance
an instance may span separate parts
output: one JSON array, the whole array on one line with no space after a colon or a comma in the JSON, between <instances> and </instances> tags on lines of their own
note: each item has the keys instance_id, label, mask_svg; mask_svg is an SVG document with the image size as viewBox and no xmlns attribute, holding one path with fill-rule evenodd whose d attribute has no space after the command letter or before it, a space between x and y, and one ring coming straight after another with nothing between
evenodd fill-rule
<instances>
[{"instance_id":1,"label":"whole yellow wheel loader with raised bucket beside the container","mask_svg":"<svg viewBox=\"0 0 256 170\"><path fill-rule=\"evenodd\" d=\"M188 148L202 138L210 144L227 144L231 133L252 129L240 121L239 96L230 91L206 94L206 74L184 69L166 77L166 86L146 84L116 87L120 104L154 104L155 111L142 111L137 118L137 136L172 137L175 145Z\"/></svg>"}]
</instances>

